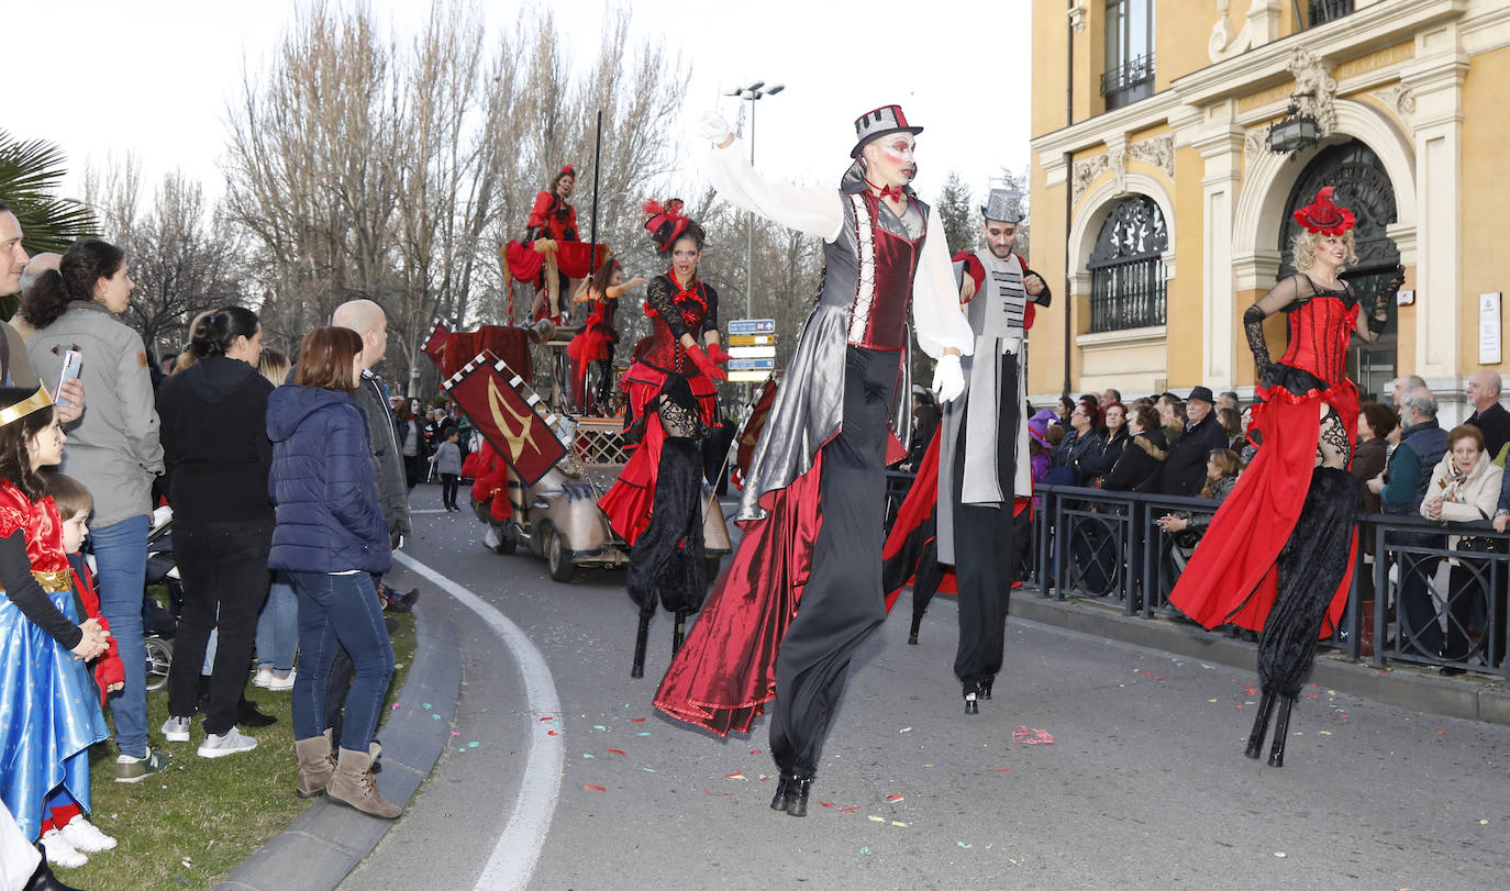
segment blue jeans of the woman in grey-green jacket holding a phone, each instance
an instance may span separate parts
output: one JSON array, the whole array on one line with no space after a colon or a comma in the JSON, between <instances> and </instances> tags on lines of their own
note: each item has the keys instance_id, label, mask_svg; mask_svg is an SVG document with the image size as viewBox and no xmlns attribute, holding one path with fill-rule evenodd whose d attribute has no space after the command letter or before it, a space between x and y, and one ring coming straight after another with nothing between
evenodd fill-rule
<instances>
[{"instance_id":1,"label":"blue jeans of the woman in grey-green jacket holding a phone","mask_svg":"<svg viewBox=\"0 0 1510 891\"><path fill-rule=\"evenodd\" d=\"M146 583L146 515L89 530L94 542L100 615L125 666L125 689L110 693L115 745L122 755L146 755L146 648L142 645L142 603Z\"/></svg>"}]
</instances>

